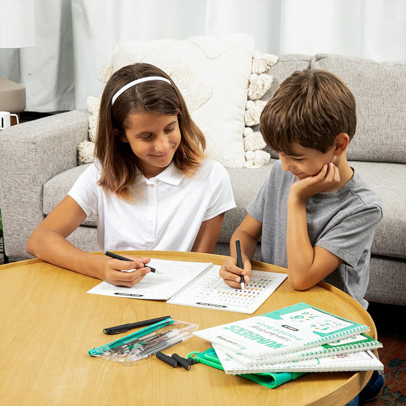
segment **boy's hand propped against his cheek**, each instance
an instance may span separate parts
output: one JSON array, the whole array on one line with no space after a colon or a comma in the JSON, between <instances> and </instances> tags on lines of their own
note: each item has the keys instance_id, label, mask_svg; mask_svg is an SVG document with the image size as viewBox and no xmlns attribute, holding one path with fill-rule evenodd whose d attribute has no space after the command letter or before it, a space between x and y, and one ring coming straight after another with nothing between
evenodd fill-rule
<instances>
[{"instance_id":1,"label":"boy's hand propped against his cheek","mask_svg":"<svg viewBox=\"0 0 406 406\"><path fill-rule=\"evenodd\" d=\"M290 187L290 194L295 195L300 200L306 201L309 197L329 190L339 183L339 168L330 162L328 165L324 164L317 175L308 176L294 182Z\"/></svg>"}]
</instances>

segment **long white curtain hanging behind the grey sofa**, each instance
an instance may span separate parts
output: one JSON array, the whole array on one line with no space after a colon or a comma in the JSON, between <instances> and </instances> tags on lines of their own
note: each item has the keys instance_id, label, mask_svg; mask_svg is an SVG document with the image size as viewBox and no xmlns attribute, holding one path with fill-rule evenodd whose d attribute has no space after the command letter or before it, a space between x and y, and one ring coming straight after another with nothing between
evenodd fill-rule
<instances>
[{"instance_id":1,"label":"long white curtain hanging behind the grey sofa","mask_svg":"<svg viewBox=\"0 0 406 406\"><path fill-rule=\"evenodd\" d=\"M11 1L11 0L1 0ZM261 52L406 59L404 0L36 0L36 46L0 51L27 111L86 107L115 43L244 32Z\"/></svg>"}]
</instances>

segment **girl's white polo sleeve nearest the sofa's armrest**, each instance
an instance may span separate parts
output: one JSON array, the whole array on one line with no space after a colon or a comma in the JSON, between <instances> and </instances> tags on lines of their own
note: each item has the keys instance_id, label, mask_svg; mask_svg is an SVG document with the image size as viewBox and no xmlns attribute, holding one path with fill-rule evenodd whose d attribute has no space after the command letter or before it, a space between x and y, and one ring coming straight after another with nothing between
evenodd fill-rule
<instances>
[{"instance_id":1,"label":"girl's white polo sleeve nearest the sofa's armrest","mask_svg":"<svg viewBox=\"0 0 406 406\"><path fill-rule=\"evenodd\" d=\"M97 216L99 173L95 164L91 164L76 180L67 193L76 200L86 216Z\"/></svg>"}]
</instances>

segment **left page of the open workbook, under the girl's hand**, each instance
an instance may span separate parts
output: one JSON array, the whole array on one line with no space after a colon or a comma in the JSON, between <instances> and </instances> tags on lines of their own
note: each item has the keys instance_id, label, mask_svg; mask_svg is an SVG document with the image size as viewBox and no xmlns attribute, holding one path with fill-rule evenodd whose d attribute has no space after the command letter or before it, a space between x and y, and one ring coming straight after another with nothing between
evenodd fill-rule
<instances>
[{"instance_id":1,"label":"left page of the open workbook, under the girl's hand","mask_svg":"<svg viewBox=\"0 0 406 406\"><path fill-rule=\"evenodd\" d=\"M148 265L159 270L161 274L150 272L141 282L132 287L101 282L87 293L134 299L167 300L212 264L210 262L151 259Z\"/></svg>"}]
</instances>

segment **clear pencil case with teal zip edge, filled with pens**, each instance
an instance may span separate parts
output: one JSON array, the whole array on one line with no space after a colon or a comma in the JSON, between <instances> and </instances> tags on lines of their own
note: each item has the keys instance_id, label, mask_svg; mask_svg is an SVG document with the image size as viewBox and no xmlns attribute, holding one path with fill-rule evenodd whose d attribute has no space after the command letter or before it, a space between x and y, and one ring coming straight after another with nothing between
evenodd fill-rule
<instances>
[{"instance_id":1,"label":"clear pencil case with teal zip edge, filled with pens","mask_svg":"<svg viewBox=\"0 0 406 406\"><path fill-rule=\"evenodd\" d=\"M189 339L197 328L198 324L168 318L89 350L89 355L132 365Z\"/></svg>"}]
</instances>

